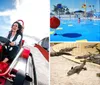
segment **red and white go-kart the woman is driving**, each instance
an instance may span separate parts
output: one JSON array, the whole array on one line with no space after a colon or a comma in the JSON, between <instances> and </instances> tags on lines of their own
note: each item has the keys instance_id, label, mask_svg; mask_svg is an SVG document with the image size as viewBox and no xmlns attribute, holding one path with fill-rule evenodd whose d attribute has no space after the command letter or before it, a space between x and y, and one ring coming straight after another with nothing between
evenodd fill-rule
<instances>
[{"instance_id":1,"label":"red and white go-kart the woman is driving","mask_svg":"<svg viewBox=\"0 0 100 85\"><path fill-rule=\"evenodd\" d=\"M9 42L8 39L0 36L0 58L2 58L3 45L6 46ZM6 70L0 72L0 85L37 85L34 58L29 48L21 46L15 59L5 65L7 65Z\"/></svg>"}]
</instances>

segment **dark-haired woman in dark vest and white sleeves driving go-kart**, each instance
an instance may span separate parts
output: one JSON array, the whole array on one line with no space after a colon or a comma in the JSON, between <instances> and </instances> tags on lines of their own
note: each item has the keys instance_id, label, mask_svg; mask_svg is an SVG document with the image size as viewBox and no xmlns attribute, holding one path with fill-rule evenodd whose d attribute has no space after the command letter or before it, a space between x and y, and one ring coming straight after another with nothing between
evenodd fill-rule
<instances>
[{"instance_id":1,"label":"dark-haired woman in dark vest and white sleeves driving go-kart","mask_svg":"<svg viewBox=\"0 0 100 85\"><path fill-rule=\"evenodd\" d=\"M22 41L22 26L19 22L13 23L7 38L10 40L10 43L3 46L2 64L12 62L20 49ZM0 69L0 72L2 72L2 69Z\"/></svg>"}]
</instances>

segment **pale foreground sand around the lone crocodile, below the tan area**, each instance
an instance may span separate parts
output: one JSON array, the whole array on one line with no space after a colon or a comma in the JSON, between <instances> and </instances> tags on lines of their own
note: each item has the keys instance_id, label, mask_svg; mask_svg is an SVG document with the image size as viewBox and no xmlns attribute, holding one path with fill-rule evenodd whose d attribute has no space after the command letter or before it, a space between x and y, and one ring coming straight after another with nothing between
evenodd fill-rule
<instances>
[{"instance_id":1,"label":"pale foreground sand around the lone crocodile, below the tan area","mask_svg":"<svg viewBox=\"0 0 100 85\"><path fill-rule=\"evenodd\" d=\"M50 58L50 85L100 85L100 78L96 73L100 72L100 68L89 63L86 64L87 71L82 70L80 74L67 76L67 72L72 66L76 66L70 60L59 57Z\"/></svg>"}]
</instances>

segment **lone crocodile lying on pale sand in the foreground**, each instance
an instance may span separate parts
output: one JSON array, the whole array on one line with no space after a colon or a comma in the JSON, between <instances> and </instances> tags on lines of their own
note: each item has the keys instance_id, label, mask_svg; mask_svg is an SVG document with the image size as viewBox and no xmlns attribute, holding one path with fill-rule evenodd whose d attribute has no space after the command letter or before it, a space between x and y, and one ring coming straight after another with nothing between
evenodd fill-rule
<instances>
[{"instance_id":1,"label":"lone crocodile lying on pale sand in the foreground","mask_svg":"<svg viewBox=\"0 0 100 85\"><path fill-rule=\"evenodd\" d=\"M79 66L71 67L71 69L67 72L67 76L73 75L75 73L79 74L82 69L87 70L86 67L84 67L86 64L86 60L83 61L83 63Z\"/></svg>"}]
</instances>

